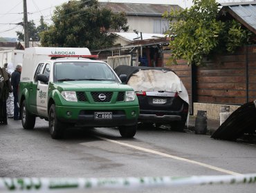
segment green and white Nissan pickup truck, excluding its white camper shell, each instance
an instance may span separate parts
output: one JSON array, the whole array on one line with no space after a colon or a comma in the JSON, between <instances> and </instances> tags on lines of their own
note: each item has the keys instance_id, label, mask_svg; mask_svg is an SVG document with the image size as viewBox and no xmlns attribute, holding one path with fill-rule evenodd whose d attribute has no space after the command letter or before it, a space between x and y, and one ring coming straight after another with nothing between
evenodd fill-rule
<instances>
[{"instance_id":1,"label":"green and white Nissan pickup truck, excluding its white camper shell","mask_svg":"<svg viewBox=\"0 0 256 193\"><path fill-rule=\"evenodd\" d=\"M62 58L40 61L31 68L24 63L19 83L21 122L26 130L35 118L49 123L53 139L63 137L66 128L118 127L122 137L136 134L139 114L134 90L125 85L103 61ZM28 70L29 71L29 70Z\"/></svg>"}]
</instances>

